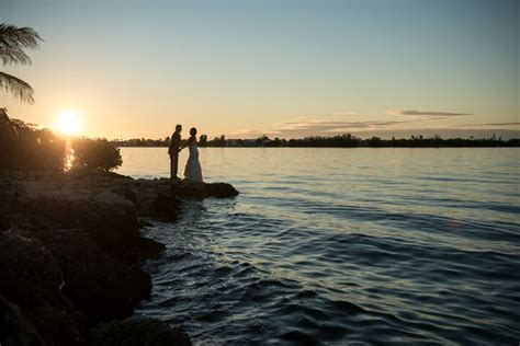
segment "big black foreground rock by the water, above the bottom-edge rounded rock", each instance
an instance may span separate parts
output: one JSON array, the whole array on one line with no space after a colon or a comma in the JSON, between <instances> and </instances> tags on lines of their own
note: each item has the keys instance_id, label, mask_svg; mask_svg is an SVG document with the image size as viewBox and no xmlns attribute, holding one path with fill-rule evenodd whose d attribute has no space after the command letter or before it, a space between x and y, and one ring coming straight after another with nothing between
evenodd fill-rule
<instances>
[{"instance_id":1,"label":"big black foreground rock by the water, above the bottom-edge rounded rock","mask_svg":"<svg viewBox=\"0 0 520 346\"><path fill-rule=\"evenodd\" d=\"M148 273L102 252L84 231L45 231L34 237L53 253L64 274L64 293L86 313L89 324L131 316L134 307L149 298Z\"/></svg>"}]
</instances>

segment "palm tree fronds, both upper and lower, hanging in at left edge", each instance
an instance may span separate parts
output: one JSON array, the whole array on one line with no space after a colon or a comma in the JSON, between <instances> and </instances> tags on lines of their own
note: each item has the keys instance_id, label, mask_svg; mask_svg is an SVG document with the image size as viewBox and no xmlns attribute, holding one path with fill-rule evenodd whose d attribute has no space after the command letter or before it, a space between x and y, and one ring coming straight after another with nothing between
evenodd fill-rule
<instances>
[{"instance_id":1,"label":"palm tree fronds, both upper and lower, hanging in at left edge","mask_svg":"<svg viewBox=\"0 0 520 346\"><path fill-rule=\"evenodd\" d=\"M31 27L0 24L0 60L3 66L31 64L25 49L35 49L42 37ZM34 103L34 90L25 81L0 71L0 88L11 92L22 102Z\"/></svg>"}]
</instances>

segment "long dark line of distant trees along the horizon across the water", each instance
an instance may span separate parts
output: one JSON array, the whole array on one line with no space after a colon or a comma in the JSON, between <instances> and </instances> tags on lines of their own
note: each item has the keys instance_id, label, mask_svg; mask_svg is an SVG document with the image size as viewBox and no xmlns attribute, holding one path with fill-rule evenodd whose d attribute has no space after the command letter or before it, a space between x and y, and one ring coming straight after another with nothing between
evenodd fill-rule
<instances>
[{"instance_id":1,"label":"long dark line of distant trees along the horizon across the water","mask_svg":"<svg viewBox=\"0 0 520 346\"><path fill-rule=\"evenodd\" d=\"M114 140L118 147L168 147L170 138ZM409 138L383 139L359 138L351 134L336 136L309 136L301 139L271 139L263 135L257 139L226 139L224 135L208 140L206 135L199 139L200 147L312 147L312 148L460 148L460 147L520 147L520 138L504 140L495 135L489 138L448 138L411 136Z\"/></svg>"}]
</instances>

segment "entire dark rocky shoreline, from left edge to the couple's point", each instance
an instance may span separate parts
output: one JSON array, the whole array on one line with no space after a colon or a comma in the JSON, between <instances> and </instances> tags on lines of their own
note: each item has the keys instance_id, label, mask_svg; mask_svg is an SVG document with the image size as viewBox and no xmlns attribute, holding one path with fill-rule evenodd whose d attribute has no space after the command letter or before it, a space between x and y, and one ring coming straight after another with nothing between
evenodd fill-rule
<instances>
[{"instance_id":1,"label":"entire dark rocky shoreline, from left edge to the couple's point","mask_svg":"<svg viewBox=\"0 0 520 346\"><path fill-rule=\"evenodd\" d=\"M183 198L233 197L229 184L115 173L0 172L0 345L191 345L178 326L135 319L163 245L140 237Z\"/></svg>"}]
</instances>

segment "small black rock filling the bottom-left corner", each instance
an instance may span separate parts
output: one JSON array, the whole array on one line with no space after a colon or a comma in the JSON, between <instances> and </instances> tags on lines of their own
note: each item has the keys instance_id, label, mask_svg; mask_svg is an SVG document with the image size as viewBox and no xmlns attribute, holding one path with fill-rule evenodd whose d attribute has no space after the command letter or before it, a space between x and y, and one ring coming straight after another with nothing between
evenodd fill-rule
<instances>
[{"instance_id":1,"label":"small black rock filling the bottom-left corner","mask_svg":"<svg viewBox=\"0 0 520 346\"><path fill-rule=\"evenodd\" d=\"M0 295L0 345L41 346L44 342L20 308Z\"/></svg>"}]
</instances>

